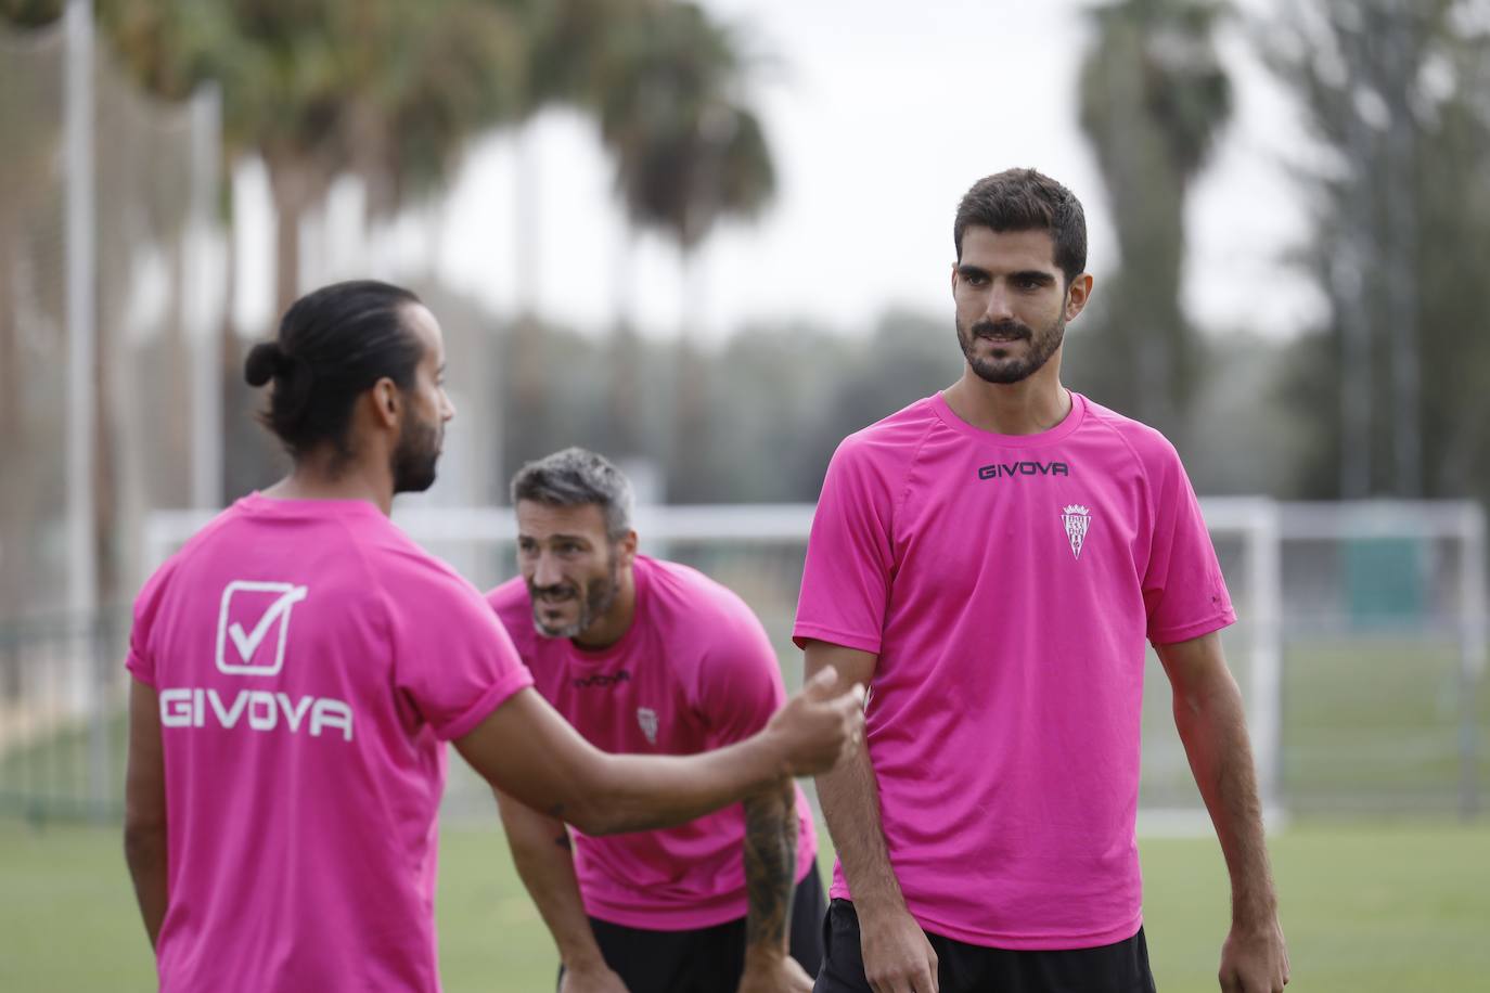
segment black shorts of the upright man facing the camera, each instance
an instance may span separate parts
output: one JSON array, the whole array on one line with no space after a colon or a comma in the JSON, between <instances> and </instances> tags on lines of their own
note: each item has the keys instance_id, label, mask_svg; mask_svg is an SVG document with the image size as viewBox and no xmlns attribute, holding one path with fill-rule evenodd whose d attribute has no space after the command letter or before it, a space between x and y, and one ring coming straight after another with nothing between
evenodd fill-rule
<instances>
[{"instance_id":1,"label":"black shorts of the upright man facing the camera","mask_svg":"<svg viewBox=\"0 0 1490 993\"><path fill-rule=\"evenodd\" d=\"M940 993L1153 993L1143 927L1113 945L1070 951L983 948L933 933L927 939L936 951ZM870 993L854 904L833 901L822 945L814 993Z\"/></svg>"}]
</instances>

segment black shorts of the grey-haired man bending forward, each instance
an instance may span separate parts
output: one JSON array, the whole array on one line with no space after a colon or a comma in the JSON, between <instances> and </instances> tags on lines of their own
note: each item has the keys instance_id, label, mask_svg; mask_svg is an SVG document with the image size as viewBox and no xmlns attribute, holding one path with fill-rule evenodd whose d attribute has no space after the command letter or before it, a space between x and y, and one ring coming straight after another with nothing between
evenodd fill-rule
<instances>
[{"instance_id":1,"label":"black shorts of the grey-haired man bending forward","mask_svg":"<svg viewBox=\"0 0 1490 993\"><path fill-rule=\"evenodd\" d=\"M791 898L791 957L808 975L822 963L825 913L814 862ZM745 971L744 917L696 930L642 930L592 917L590 927L629 993L735 993Z\"/></svg>"}]
</instances>

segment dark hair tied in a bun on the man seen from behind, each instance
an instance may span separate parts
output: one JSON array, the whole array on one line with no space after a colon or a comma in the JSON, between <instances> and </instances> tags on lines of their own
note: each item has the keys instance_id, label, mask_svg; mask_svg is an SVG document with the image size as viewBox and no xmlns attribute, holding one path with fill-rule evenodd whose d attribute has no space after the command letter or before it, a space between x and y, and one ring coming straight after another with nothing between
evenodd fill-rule
<instances>
[{"instance_id":1,"label":"dark hair tied in a bun on the man seen from behind","mask_svg":"<svg viewBox=\"0 0 1490 993\"><path fill-rule=\"evenodd\" d=\"M419 302L410 290L375 280L334 283L295 301L279 336L253 345L243 377L249 386L274 380L259 420L291 456L329 442L350 457L356 397L383 377L401 390L413 386L425 348L404 310Z\"/></svg>"}]
</instances>

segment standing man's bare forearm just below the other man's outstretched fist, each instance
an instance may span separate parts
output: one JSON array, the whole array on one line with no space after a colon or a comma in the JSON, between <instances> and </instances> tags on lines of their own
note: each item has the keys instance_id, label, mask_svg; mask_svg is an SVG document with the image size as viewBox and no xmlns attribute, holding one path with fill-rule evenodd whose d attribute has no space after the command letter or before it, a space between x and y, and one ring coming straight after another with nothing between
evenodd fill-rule
<instances>
[{"instance_id":1,"label":"standing man's bare forearm just below the other man's outstretched fist","mask_svg":"<svg viewBox=\"0 0 1490 993\"><path fill-rule=\"evenodd\" d=\"M822 817L833 834L854 907L861 916L866 911L904 910L900 881L885 847L879 785L869 749L860 749L831 773L818 776L817 782Z\"/></svg>"}]
</instances>

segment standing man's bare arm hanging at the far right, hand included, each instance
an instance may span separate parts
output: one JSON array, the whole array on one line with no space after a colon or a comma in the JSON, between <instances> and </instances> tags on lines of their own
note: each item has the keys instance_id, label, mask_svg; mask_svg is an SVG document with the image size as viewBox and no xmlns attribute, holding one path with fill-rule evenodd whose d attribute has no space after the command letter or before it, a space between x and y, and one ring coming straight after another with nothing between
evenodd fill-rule
<instances>
[{"instance_id":1,"label":"standing man's bare arm hanging at the far right, hand included","mask_svg":"<svg viewBox=\"0 0 1490 993\"><path fill-rule=\"evenodd\" d=\"M1231 875L1231 933L1222 947L1220 989L1281 993L1289 981L1289 953L1278 925L1241 692L1216 633L1155 648L1174 689L1174 727Z\"/></svg>"}]
</instances>

